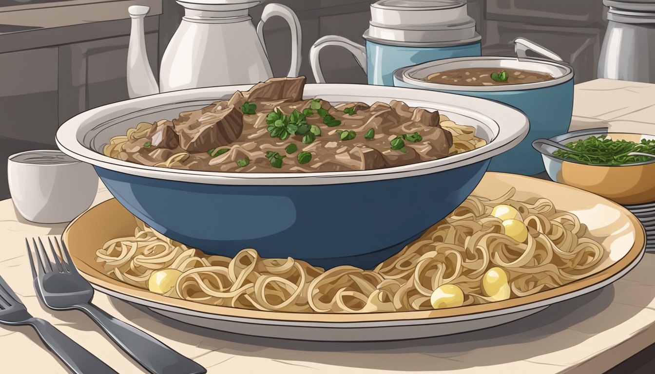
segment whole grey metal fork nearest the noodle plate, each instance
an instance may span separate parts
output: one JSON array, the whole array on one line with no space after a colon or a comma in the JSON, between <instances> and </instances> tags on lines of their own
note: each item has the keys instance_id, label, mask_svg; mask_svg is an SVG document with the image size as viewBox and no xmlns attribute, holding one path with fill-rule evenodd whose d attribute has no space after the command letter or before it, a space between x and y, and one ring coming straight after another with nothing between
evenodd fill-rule
<instances>
[{"instance_id":1,"label":"whole grey metal fork nearest the noodle plate","mask_svg":"<svg viewBox=\"0 0 655 374\"><path fill-rule=\"evenodd\" d=\"M36 253L37 263L35 266L30 255L29 242L25 239L28 247L29 263L34 276L34 288L37 295L43 303L50 309L69 310L79 309L88 314L98 326L100 326L109 337L129 354L136 362L145 367L147 371L154 374L202 374L206 369L195 361L182 356L172 348L151 335L137 329L136 327L126 324L117 318L107 314L102 309L98 309L90 301L93 297L93 288L77 272L73 265L71 255L68 253L66 245L58 239L54 242L60 253L54 250L52 241L48 238L50 252L54 263L50 262L50 257L39 238L39 246L32 238L34 252ZM65 257L65 258L64 258ZM37 275L38 272L38 275Z\"/></svg>"}]
</instances>

